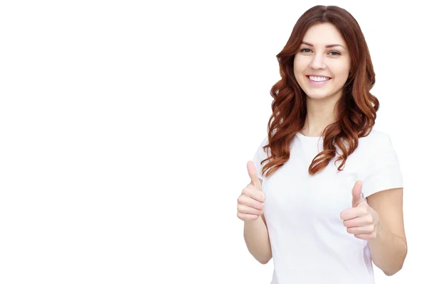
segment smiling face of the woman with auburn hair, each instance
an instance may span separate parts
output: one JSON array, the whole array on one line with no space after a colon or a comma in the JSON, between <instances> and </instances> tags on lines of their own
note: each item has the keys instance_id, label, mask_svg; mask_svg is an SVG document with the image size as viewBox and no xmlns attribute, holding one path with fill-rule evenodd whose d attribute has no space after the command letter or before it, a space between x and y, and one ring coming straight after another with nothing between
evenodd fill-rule
<instances>
[{"instance_id":1,"label":"smiling face of the woman with auburn hair","mask_svg":"<svg viewBox=\"0 0 427 284\"><path fill-rule=\"evenodd\" d=\"M350 66L347 45L332 23L311 26L293 62L295 78L310 99L334 101L342 96Z\"/></svg>"}]
</instances>

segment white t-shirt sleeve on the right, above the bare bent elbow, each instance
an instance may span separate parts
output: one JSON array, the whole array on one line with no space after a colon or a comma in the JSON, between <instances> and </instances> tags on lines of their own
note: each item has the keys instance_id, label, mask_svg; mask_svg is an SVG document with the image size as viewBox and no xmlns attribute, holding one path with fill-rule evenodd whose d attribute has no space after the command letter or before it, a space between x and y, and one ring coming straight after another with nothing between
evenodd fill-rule
<instances>
[{"instance_id":1,"label":"white t-shirt sleeve on the right, above the bare bent elbow","mask_svg":"<svg viewBox=\"0 0 427 284\"><path fill-rule=\"evenodd\" d=\"M365 198L382 190L404 187L399 160L388 134L381 133L376 137L371 143L371 156L367 158L368 168L362 180Z\"/></svg>"}]
</instances>

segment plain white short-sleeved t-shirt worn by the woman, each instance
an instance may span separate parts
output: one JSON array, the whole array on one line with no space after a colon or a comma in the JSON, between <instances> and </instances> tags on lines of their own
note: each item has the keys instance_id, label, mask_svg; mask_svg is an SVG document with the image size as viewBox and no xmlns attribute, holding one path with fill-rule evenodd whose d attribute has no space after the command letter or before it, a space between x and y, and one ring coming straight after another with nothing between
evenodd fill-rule
<instances>
[{"instance_id":1,"label":"plain white short-sleeved t-shirt worn by the woman","mask_svg":"<svg viewBox=\"0 0 427 284\"><path fill-rule=\"evenodd\" d=\"M308 168L323 150L322 137L297 133L290 159L269 178L260 162L270 155L258 147L253 163L263 180L264 217L273 252L271 284L373 284L374 271L368 241L347 232L340 213L352 208L352 189L362 180L362 196L403 187L399 161L388 134L372 130L359 138L342 172L335 156L320 173ZM339 151L339 148L337 148ZM340 152L339 152L340 153ZM263 163L265 165L265 163Z\"/></svg>"}]
</instances>

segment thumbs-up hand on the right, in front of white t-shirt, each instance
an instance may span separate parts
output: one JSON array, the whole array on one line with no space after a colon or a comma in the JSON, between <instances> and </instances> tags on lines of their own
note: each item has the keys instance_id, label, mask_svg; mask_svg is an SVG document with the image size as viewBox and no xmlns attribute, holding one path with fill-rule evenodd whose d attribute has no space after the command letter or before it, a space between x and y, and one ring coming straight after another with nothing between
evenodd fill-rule
<instances>
[{"instance_id":1,"label":"thumbs-up hand on the right, in front of white t-shirt","mask_svg":"<svg viewBox=\"0 0 427 284\"><path fill-rule=\"evenodd\" d=\"M362 181L358 180L352 190L352 208L339 214L349 234L357 239L374 239L379 231L379 214L362 198Z\"/></svg>"}]
</instances>

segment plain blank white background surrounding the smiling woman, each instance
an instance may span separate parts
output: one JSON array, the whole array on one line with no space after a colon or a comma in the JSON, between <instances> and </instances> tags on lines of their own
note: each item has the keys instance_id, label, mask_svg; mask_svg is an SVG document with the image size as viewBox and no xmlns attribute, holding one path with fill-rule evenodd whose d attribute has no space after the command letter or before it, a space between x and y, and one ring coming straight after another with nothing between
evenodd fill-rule
<instances>
[{"instance_id":1,"label":"plain blank white background surrounding the smiling woman","mask_svg":"<svg viewBox=\"0 0 427 284\"><path fill-rule=\"evenodd\" d=\"M425 15L378 3L322 4L362 27L404 175L408 256L376 283L426 283ZM1 1L0 283L270 283L237 197L316 4Z\"/></svg>"}]
</instances>

